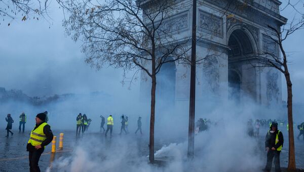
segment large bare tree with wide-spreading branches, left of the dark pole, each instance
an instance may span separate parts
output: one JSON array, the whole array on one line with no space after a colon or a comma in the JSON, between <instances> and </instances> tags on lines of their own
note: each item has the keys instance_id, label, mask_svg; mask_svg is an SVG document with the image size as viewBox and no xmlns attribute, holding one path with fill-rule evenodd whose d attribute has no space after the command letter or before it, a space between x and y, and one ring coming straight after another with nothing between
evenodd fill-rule
<instances>
[{"instance_id":1,"label":"large bare tree with wide-spreading branches, left of the dark pole","mask_svg":"<svg viewBox=\"0 0 304 172\"><path fill-rule=\"evenodd\" d=\"M188 62L189 38L178 40L179 25L172 27L170 16L175 1L109 0L60 1L69 13L63 25L74 41L83 41L86 62L139 69L151 79L149 160L154 162L154 126L157 74L165 63ZM175 32L175 33L173 33Z\"/></svg>"}]
</instances>

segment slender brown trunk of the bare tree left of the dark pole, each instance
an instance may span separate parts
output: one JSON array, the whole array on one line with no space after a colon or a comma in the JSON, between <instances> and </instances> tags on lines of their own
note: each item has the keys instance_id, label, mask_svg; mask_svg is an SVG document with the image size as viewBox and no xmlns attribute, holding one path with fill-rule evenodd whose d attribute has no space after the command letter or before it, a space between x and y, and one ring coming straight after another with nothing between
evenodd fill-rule
<instances>
[{"instance_id":1,"label":"slender brown trunk of the bare tree left of the dark pole","mask_svg":"<svg viewBox=\"0 0 304 172\"><path fill-rule=\"evenodd\" d=\"M154 162L154 121L155 121L155 91L156 73L155 60L152 60L152 87L151 87L151 113L150 113L150 142L149 142L149 161Z\"/></svg>"}]
</instances>

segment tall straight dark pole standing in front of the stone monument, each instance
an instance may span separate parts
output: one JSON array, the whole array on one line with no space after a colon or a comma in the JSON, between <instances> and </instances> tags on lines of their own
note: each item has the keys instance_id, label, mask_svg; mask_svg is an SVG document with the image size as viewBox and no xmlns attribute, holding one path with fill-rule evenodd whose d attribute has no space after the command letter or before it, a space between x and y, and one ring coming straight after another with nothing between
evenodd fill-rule
<instances>
[{"instance_id":1,"label":"tall straight dark pole standing in front of the stone monument","mask_svg":"<svg viewBox=\"0 0 304 172\"><path fill-rule=\"evenodd\" d=\"M194 123L195 123L195 86L196 86L196 26L197 26L197 1L193 0L192 17L192 51L191 51L191 79L189 98L189 132L188 132L188 157L194 157Z\"/></svg>"}]
</instances>

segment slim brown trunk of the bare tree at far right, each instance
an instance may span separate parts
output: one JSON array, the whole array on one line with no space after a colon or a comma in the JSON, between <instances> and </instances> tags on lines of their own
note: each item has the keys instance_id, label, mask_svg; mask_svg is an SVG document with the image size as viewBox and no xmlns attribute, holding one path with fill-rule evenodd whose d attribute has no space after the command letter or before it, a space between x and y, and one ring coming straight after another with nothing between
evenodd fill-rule
<instances>
[{"instance_id":1,"label":"slim brown trunk of the bare tree at far right","mask_svg":"<svg viewBox=\"0 0 304 172\"><path fill-rule=\"evenodd\" d=\"M288 125L289 125L288 171L295 171L295 153L294 153L294 136L293 136L293 120L292 120L292 83L287 68L285 68L285 79L287 83L287 111L288 111Z\"/></svg>"}]
</instances>

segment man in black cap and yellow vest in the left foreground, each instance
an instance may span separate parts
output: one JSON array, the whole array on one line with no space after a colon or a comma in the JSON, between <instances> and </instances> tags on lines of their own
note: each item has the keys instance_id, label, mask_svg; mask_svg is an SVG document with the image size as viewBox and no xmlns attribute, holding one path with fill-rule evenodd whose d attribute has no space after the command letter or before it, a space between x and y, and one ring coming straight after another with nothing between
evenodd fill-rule
<instances>
[{"instance_id":1,"label":"man in black cap and yellow vest in the left foreground","mask_svg":"<svg viewBox=\"0 0 304 172\"><path fill-rule=\"evenodd\" d=\"M40 171L38 162L45 146L49 145L53 140L53 132L50 125L46 123L46 114L37 114L36 125L30 133L29 141L26 145L26 151L29 152L29 171Z\"/></svg>"}]
</instances>

